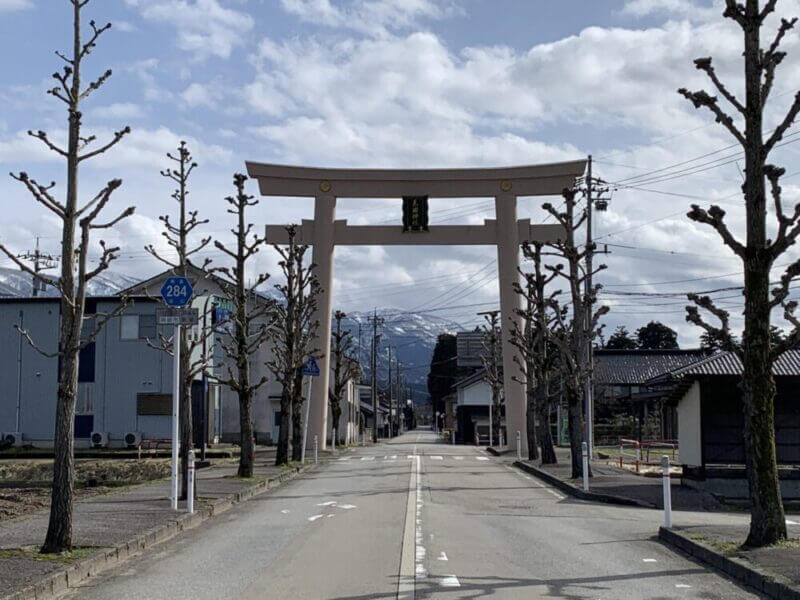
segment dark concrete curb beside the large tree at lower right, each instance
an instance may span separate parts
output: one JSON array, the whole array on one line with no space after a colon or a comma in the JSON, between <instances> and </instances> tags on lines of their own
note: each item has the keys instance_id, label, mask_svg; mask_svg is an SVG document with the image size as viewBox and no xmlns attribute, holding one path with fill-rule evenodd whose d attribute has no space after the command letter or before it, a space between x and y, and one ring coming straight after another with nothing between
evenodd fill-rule
<instances>
[{"instance_id":1,"label":"dark concrete curb beside the large tree at lower right","mask_svg":"<svg viewBox=\"0 0 800 600\"><path fill-rule=\"evenodd\" d=\"M705 544L678 533L673 529L660 527L658 539L672 548L678 549L698 561L710 565L736 579L737 581L776 600L800 600L800 590L790 587L775 576L762 573L740 558L728 557Z\"/></svg>"}]
</instances>

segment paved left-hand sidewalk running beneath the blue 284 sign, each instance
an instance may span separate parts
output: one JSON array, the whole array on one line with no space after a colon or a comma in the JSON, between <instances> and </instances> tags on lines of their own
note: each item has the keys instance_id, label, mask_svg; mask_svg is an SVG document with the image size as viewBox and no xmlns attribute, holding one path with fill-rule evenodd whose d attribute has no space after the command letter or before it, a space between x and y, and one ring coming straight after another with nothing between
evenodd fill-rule
<instances>
[{"instance_id":1,"label":"paved left-hand sidewalk running beneath the blue 284 sign","mask_svg":"<svg viewBox=\"0 0 800 600\"><path fill-rule=\"evenodd\" d=\"M236 502L279 485L300 471L275 467L274 456L274 450L259 451L254 477L249 480L235 477L238 465L235 460L220 461L198 471L194 515L185 512L185 502L179 503L178 512L170 509L168 479L76 502L73 545L79 550L72 559L36 554L47 532L49 509L0 523L0 598L13 597L15 592L34 584L36 595L26 598L50 597L44 589L38 593L39 587L54 586L43 584L51 579L49 576L68 569L73 571L73 578L83 578L87 571L97 570L98 558L105 557L109 562L124 559L227 510Z\"/></svg>"}]
</instances>

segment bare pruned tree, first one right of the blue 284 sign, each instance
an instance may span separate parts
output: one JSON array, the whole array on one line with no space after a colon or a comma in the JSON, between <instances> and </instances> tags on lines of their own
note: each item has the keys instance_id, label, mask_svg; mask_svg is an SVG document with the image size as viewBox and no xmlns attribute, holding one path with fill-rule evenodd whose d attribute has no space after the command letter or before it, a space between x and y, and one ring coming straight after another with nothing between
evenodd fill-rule
<instances>
[{"instance_id":1,"label":"bare pruned tree, first one right of the blue 284 sign","mask_svg":"<svg viewBox=\"0 0 800 600\"><path fill-rule=\"evenodd\" d=\"M246 268L248 261L258 254L266 239L253 234L252 241L248 241L253 224L247 223L245 211L250 206L258 204L254 196L248 196L244 191L247 177L241 173L233 176L233 185L236 187L236 196L228 196L225 200L233 208L228 212L236 215L236 229L231 233L236 237L236 250L230 250L222 242L215 241L214 245L220 251L236 261L236 266L214 269L227 276L232 286L225 286L225 295L233 304L233 335L223 340L221 346L228 359L226 364L227 377L220 382L230 387L239 396L239 431L241 453L239 455L239 477L252 477L255 462L255 437L253 434L252 405L253 394L267 382L266 377L261 377L253 382L250 374L250 359L253 353L267 340L267 319L269 318L269 302L259 296L256 290L269 279L268 274L257 275L248 285L246 282ZM233 366L231 365L233 363Z\"/></svg>"}]
</instances>

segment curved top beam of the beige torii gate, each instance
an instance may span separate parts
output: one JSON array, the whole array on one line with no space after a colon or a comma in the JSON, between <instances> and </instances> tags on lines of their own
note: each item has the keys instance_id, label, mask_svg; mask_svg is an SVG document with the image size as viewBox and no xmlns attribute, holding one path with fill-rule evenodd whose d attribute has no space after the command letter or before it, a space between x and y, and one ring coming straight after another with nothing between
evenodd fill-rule
<instances>
[{"instance_id":1,"label":"curved top beam of the beige torii gate","mask_svg":"<svg viewBox=\"0 0 800 600\"><path fill-rule=\"evenodd\" d=\"M263 196L494 198L553 196L583 175L586 160L476 169L321 169L247 162Z\"/></svg>"}]
</instances>

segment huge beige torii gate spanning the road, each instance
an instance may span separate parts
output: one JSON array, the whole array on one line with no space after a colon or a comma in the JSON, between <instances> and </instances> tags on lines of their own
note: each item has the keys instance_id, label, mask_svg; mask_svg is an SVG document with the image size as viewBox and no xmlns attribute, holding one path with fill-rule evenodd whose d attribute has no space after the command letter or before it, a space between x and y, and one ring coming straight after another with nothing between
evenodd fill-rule
<instances>
[{"instance_id":1,"label":"huge beige torii gate spanning the road","mask_svg":"<svg viewBox=\"0 0 800 600\"><path fill-rule=\"evenodd\" d=\"M522 242L552 242L563 238L560 225L532 225L517 220L517 197L559 195L583 175L586 160L504 168L478 169L320 169L247 162L247 173L258 179L264 196L314 198L314 219L303 219L297 242L311 245L312 260L321 286L317 299L316 347L325 355L320 376L313 378L308 423L308 441L318 436L325 448L328 418L329 354L331 347L331 291L333 250L337 245L361 246L497 246L500 281L500 311L503 350L503 386L506 429L521 432L522 451L527 453L525 390L515 382L518 351L511 343L509 321L520 323L515 312L521 307L513 283L519 280L519 247ZM336 220L338 198L433 198L495 199L496 219L483 225L431 225L428 231L405 232L398 225L348 225ZM267 240L288 243L285 225L267 225Z\"/></svg>"}]
</instances>

